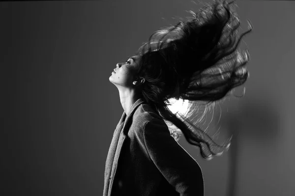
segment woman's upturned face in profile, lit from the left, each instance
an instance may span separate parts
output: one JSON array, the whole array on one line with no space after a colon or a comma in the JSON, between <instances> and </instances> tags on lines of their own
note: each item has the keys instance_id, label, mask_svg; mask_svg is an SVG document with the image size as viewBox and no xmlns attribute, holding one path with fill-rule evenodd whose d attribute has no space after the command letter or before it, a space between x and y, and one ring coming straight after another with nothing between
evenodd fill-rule
<instances>
[{"instance_id":1,"label":"woman's upturned face in profile, lit from the left","mask_svg":"<svg viewBox=\"0 0 295 196\"><path fill-rule=\"evenodd\" d=\"M115 72L109 77L110 82L118 86L133 87L134 74L138 70L139 55L131 56L126 62L118 63Z\"/></svg>"}]
</instances>

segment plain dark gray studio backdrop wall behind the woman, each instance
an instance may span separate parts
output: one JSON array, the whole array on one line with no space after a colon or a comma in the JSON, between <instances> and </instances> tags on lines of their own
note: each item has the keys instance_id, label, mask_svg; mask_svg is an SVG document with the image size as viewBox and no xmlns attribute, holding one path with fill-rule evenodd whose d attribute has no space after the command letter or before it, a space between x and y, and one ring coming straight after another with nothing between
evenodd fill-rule
<instances>
[{"instance_id":1,"label":"plain dark gray studio backdrop wall behind the woman","mask_svg":"<svg viewBox=\"0 0 295 196\"><path fill-rule=\"evenodd\" d=\"M247 19L253 25L241 43L250 52L246 94L206 120L214 117L208 131L219 131L218 142L234 134L233 144L211 161L184 138L180 144L200 164L206 196L295 196L295 2L236 3L240 33ZM123 112L111 72L153 31L199 7L190 0L0 2L1 195L102 195Z\"/></svg>"}]
</instances>

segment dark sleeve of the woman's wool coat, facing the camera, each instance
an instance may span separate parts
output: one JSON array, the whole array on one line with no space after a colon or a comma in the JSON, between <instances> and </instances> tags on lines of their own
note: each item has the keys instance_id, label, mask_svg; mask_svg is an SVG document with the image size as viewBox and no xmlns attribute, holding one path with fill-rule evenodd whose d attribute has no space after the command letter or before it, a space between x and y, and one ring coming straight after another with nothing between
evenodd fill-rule
<instances>
[{"instance_id":1,"label":"dark sleeve of the woman's wool coat, facing the camera","mask_svg":"<svg viewBox=\"0 0 295 196\"><path fill-rule=\"evenodd\" d=\"M170 135L164 121L146 123L144 141L150 159L180 196L204 196L199 164Z\"/></svg>"}]
</instances>

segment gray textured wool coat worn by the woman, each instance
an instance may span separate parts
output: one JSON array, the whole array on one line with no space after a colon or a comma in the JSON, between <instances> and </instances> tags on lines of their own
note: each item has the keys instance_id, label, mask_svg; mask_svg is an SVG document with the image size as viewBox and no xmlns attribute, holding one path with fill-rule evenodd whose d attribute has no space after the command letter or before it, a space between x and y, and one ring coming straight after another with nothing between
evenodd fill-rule
<instances>
[{"instance_id":1,"label":"gray textured wool coat worn by the woman","mask_svg":"<svg viewBox=\"0 0 295 196\"><path fill-rule=\"evenodd\" d=\"M109 148L103 196L204 196L199 164L142 99L123 112Z\"/></svg>"}]
</instances>

